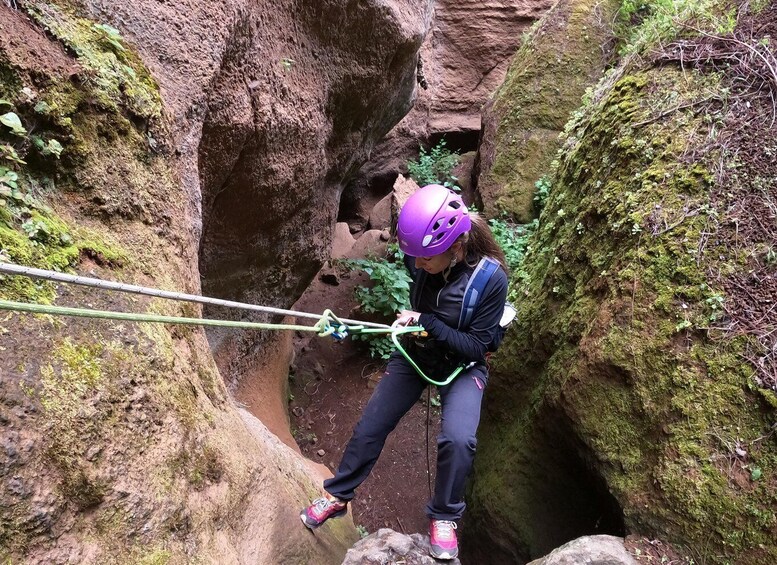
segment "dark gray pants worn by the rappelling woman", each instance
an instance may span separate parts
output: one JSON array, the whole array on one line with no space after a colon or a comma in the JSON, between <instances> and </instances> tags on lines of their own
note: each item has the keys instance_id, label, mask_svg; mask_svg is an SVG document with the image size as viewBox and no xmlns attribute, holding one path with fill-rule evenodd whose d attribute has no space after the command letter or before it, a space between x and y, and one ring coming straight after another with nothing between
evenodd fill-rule
<instances>
[{"instance_id":1,"label":"dark gray pants worn by the rappelling woman","mask_svg":"<svg viewBox=\"0 0 777 565\"><path fill-rule=\"evenodd\" d=\"M437 437L434 497L426 506L430 518L458 520L464 512L464 486L475 457L475 433L486 380L485 367L478 365L462 371L452 383L440 388L442 429ZM335 476L324 481L324 489L329 494L341 500L354 497L354 490L378 460L386 437L427 386L403 357L392 355L386 373L353 431Z\"/></svg>"}]
</instances>

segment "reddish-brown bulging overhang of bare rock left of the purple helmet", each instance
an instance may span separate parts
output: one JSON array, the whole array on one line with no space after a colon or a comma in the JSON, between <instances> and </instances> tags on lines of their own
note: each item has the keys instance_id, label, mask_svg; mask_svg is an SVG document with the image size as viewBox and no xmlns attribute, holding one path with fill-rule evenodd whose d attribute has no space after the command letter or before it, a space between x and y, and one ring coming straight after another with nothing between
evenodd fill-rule
<instances>
[{"instance_id":1,"label":"reddish-brown bulging overhang of bare rock left of the purple helmet","mask_svg":"<svg viewBox=\"0 0 777 565\"><path fill-rule=\"evenodd\" d=\"M159 82L203 292L292 304L329 256L346 179L412 106L431 0L85 7ZM250 371L255 336L209 339L223 372Z\"/></svg>"}]
</instances>

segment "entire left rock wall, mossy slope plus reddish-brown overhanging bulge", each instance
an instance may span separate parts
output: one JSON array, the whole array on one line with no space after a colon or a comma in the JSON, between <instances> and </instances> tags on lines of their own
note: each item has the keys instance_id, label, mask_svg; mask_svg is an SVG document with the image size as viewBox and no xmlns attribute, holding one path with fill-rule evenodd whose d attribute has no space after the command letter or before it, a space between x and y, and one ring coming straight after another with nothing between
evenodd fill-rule
<instances>
[{"instance_id":1,"label":"entire left rock wall, mossy slope plus reddish-brown overhanging bulge","mask_svg":"<svg viewBox=\"0 0 777 565\"><path fill-rule=\"evenodd\" d=\"M344 179L410 107L431 16L420 0L13 4L0 99L25 131L0 128L18 156L3 260L193 293L201 270L207 293L281 306L328 254ZM200 315L19 277L0 296ZM3 317L0 560L341 561L352 522L301 527L321 476L219 375L266 353L210 337L218 365L200 329Z\"/></svg>"}]
</instances>

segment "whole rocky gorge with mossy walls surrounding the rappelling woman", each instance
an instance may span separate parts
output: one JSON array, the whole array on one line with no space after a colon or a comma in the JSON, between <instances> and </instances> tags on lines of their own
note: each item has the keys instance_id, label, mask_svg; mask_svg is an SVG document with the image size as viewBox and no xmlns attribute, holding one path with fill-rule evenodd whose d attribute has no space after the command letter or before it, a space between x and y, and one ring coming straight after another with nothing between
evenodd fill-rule
<instances>
[{"instance_id":1,"label":"whole rocky gorge with mossy walls surrounding the rappelling woman","mask_svg":"<svg viewBox=\"0 0 777 565\"><path fill-rule=\"evenodd\" d=\"M0 265L383 322L358 261L445 147L518 313L448 562L770 565L775 37L773 0L5 0ZM441 562L435 391L311 532L382 361L213 302L0 274L0 561Z\"/></svg>"}]
</instances>

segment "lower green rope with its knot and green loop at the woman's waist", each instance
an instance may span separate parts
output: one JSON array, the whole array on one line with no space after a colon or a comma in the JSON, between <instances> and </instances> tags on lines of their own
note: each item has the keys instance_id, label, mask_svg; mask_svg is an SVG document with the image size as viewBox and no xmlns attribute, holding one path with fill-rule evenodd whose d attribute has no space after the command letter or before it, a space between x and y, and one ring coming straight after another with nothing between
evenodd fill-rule
<instances>
[{"instance_id":1,"label":"lower green rope with its knot and green loop at the woman's waist","mask_svg":"<svg viewBox=\"0 0 777 565\"><path fill-rule=\"evenodd\" d=\"M423 372L421 367L413 361L405 348L399 342L398 337L406 333L421 333L424 331L422 326L402 326L393 328L367 328L364 326L348 326L340 321L331 310L325 310L321 314L321 319L312 326L302 326L295 324L270 324L264 322L237 322L232 320L210 320L207 318L182 318L177 316L163 316L155 314L134 314L129 312L112 312L109 310L90 310L86 308L71 308L67 306L52 306L48 304L28 304L24 302L13 302L10 300L0 300L0 310L9 310L15 312L29 312L33 314L49 314L54 316L75 316L78 318L99 318L103 320L119 320L125 322L151 322L157 324L184 324L197 326L215 326L225 328L244 328L254 330L296 330L303 332L316 332L319 336L336 335L345 337L350 334L391 334L391 340L394 342L397 350L407 359L407 362L415 369L418 375L425 381L435 386L445 386L455 379L464 369L464 366L458 367L444 381L435 381ZM330 322L334 322L332 325ZM342 339L342 338L341 338Z\"/></svg>"}]
</instances>

